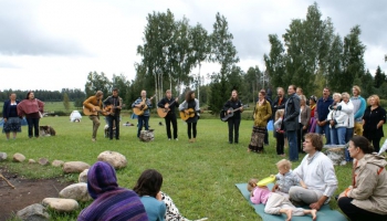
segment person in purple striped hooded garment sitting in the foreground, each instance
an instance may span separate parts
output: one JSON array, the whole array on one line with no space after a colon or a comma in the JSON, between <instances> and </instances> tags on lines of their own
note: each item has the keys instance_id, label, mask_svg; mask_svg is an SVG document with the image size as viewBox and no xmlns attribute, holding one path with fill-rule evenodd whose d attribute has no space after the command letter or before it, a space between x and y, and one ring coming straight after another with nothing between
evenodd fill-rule
<instances>
[{"instance_id":1,"label":"person in purple striped hooded garment sitting in the foreground","mask_svg":"<svg viewBox=\"0 0 387 221\"><path fill-rule=\"evenodd\" d=\"M116 171L104 161L95 162L87 172L87 190L94 201L77 221L147 221L144 204L136 192L119 188Z\"/></svg>"}]
</instances>

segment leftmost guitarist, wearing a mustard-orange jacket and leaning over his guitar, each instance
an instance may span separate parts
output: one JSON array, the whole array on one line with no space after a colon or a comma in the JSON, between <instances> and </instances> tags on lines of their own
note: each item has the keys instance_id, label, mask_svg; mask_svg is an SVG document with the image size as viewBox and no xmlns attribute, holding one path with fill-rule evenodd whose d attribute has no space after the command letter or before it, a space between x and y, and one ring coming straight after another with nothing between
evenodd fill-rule
<instances>
[{"instance_id":1,"label":"leftmost guitarist, wearing a mustard-orange jacket and leaning over his guitar","mask_svg":"<svg viewBox=\"0 0 387 221\"><path fill-rule=\"evenodd\" d=\"M98 131L98 127L101 125L100 123L100 115L97 109L102 109L102 98L104 97L104 93L102 91L97 91L94 96L88 97L86 101L83 102L83 106L85 108L88 108L92 110L93 115L90 115L88 118L93 122L93 136L92 140L95 141L96 134Z\"/></svg>"}]
</instances>

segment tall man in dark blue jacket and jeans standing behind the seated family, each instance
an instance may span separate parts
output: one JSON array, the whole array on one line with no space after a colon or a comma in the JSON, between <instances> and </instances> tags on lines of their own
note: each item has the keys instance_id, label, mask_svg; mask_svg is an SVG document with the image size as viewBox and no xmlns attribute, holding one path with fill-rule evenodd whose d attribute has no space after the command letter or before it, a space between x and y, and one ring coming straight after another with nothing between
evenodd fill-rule
<instances>
[{"instance_id":1,"label":"tall man in dark blue jacket and jeans standing behind the seated family","mask_svg":"<svg viewBox=\"0 0 387 221\"><path fill-rule=\"evenodd\" d=\"M299 127L300 97L295 94L295 85L290 85L287 87L289 96L285 103L285 114L283 118L289 141L289 159L291 161L299 160L296 131Z\"/></svg>"}]
</instances>

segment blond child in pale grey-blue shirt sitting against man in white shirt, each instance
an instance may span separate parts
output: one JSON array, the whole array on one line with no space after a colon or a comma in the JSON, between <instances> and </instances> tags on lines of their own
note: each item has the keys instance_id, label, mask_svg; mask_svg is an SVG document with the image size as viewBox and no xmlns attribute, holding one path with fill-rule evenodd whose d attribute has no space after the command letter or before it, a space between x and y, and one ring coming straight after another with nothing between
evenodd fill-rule
<instances>
[{"instance_id":1,"label":"blond child in pale grey-blue shirt sitting against man in white shirt","mask_svg":"<svg viewBox=\"0 0 387 221\"><path fill-rule=\"evenodd\" d=\"M275 175L276 183L274 185L272 191L283 194L289 198L289 190L293 186L301 186L306 189L305 182L296 175L291 171L292 162L287 159L281 159L276 162L276 168L279 173Z\"/></svg>"}]
</instances>

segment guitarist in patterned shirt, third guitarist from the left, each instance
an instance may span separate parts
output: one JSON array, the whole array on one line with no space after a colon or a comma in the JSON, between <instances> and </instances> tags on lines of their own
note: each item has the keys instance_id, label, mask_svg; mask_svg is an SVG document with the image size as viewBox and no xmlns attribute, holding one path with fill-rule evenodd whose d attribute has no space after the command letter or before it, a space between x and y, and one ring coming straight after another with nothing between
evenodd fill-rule
<instances>
[{"instance_id":1,"label":"guitarist in patterned shirt, third guitarist from the left","mask_svg":"<svg viewBox=\"0 0 387 221\"><path fill-rule=\"evenodd\" d=\"M151 97L153 98L153 97ZM145 124L145 129L148 130L149 129L149 116L150 116L150 112L149 108L151 108L151 98L146 98L146 91L143 90L140 93L140 97L138 97L133 104L132 107L135 108L140 108L143 112L142 115L138 115L138 130L137 130L137 137L139 138L139 134L142 133L143 129L143 123ZM146 107L146 108L145 108Z\"/></svg>"}]
</instances>

